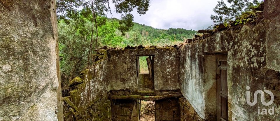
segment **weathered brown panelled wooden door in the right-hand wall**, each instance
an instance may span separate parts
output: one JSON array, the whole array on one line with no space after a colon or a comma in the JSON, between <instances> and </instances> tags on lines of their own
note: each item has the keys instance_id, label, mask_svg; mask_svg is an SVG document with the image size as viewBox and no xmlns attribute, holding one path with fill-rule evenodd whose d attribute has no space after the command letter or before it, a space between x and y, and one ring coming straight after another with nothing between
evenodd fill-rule
<instances>
[{"instance_id":1,"label":"weathered brown panelled wooden door in the right-hand wall","mask_svg":"<svg viewBox=\"0 0 280 121\"><path fill-rule=\"evenodd\" d=\"M227 55L216 55L217 60L217 120L228 121Z\"/></svg>"}]
</instances>

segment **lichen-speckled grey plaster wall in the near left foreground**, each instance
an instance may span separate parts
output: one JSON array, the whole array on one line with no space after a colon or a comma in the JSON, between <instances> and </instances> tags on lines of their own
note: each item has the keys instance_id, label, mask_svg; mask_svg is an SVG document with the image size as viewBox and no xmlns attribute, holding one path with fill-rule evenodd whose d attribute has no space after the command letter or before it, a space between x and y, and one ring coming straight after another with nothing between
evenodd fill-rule
<instances>
[{"instance_id":1,"label":"lichen-speckled grey plaster wall in the near left foreground","mask_svg":"<svg viewBox=\"0 0 280 121\"><path fill-rule=\"evenodd\" d=\"M0 0L0 120L57 120L53 4Z\"/></svg>"}]
</instances>

